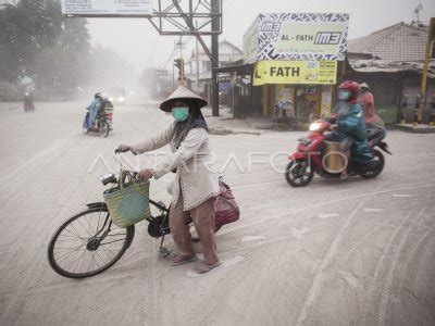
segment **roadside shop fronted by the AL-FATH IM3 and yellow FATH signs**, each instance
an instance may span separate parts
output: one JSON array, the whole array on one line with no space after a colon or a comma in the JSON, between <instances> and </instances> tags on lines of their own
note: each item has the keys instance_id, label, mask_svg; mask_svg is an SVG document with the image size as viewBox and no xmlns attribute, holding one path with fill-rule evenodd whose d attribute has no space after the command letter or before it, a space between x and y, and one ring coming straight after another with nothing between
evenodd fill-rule
<instances>
[{"instance_id":1,"label":"roadside shop fronted by the AL-FATH IM3 and yellow FATH signs","mask_svg":"<svg viewBox=\"0 0 435 326\"><path fill-rule=\"evenodd\" d=\"M339 62L346 57L348 14L260 14L244 36L244 60L231 74L236 117L273 118L287 101L298 125L328 115Z\"/></svg>"}]
</instances>

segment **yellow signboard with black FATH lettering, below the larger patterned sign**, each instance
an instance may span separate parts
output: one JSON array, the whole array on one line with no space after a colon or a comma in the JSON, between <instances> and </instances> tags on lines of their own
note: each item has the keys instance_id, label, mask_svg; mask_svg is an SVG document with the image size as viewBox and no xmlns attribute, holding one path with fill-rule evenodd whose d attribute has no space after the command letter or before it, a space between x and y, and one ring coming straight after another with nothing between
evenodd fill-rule
<instances>
[{"instance_id":1,"label":"yellow signboard with black FATH lettering, below the larger patterned sign","mask_svg":"<svg viewBox=\"0 0 435 326\"><path fill-rule=\"evenodd\" d=\"M253 86L264 84L336 84L337 61L260 61Z\"/></svg>"}]
</instances>

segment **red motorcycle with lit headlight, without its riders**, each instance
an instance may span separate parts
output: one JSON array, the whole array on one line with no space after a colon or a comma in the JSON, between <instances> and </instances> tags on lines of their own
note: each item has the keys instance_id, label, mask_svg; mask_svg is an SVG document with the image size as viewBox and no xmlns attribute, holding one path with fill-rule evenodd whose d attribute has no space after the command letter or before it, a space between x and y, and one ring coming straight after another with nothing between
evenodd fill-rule
<instances>
[{"instance_id":1,"label":"red motorcycle with lit headlight, without its riders","mask_svg":"<svg viewBox=\"0 0 435 326\"><path fill-rule=\"evenodd\" d=\"M383 141L385 138L384 128L372 128L368 130L368 139L372 149L373 159L369 161L348 160L343 153L328 152L325 133L331 130L332 123L318 121L310 125L311 134L299 139L297 152L288 156L290 161L286 167L285 178L293 187L304 187L309 185L314 172L324 178L340 178L341 172L346 168L349 176L360 175L365 179L377 177L385 165L385 158L378 150L391 154L388 145ZM378 149L377 149L378 148ZM328 168L328 156L338 154L345 164L339 170Z\"/></svg>"}]
</instances>

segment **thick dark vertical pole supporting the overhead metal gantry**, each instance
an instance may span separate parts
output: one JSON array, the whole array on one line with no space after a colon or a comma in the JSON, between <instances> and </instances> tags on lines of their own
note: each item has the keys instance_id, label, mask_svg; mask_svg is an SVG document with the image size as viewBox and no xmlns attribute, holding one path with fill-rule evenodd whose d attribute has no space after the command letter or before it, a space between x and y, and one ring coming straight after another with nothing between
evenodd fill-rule
<instances>
[{"instance_id":1,"label":"thick dark vertical pole supporting the overhead metal gantry","mask_svg":"<svg viewBox=\"0 0 435 326\"><path fill-rule=\"evenodd\" d=\"M220 0L211 0L211 14L220 13ZM221 20L219 17L213 17L211 21L211 30L221 30ZM211 106L212 115L219 116L219 82L217 82L217 67L219 67L219 34L211 35Z\"/></svg>"}]
</instances>

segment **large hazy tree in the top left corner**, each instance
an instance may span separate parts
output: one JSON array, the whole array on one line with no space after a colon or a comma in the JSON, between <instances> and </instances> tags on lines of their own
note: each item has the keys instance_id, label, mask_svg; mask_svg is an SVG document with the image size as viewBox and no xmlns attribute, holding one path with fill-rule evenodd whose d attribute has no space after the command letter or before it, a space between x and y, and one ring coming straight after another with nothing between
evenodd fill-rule
<instances>
[{"instance_id":1,"label":"large hazy tree in the top left corner","mask_svg":"<svg viewBox=\"0 0 435 326\"><path fill-rule=\"evenodd\" d=\"M90 64L84 18L62 16L58 0L21 0L0 9L0 80L32 76L38 87L84 83Z\"/></svg>"}]
</instances>

